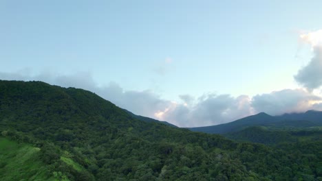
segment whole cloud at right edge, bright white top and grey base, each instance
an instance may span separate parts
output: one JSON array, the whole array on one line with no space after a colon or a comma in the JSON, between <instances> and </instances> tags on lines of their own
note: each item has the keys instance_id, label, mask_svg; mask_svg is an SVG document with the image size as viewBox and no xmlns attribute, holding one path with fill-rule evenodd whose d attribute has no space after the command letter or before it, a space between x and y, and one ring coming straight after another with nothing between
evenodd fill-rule
<instances>
[{"instance_id":1,"label":"whole cloud at right edge, bright white top and grey base","mask_svg":"<svg viewBox=\"0 0 322 181\"><path fill-rule=\"evenodd\" d=\"M312 91L322 86L322 29L302 34L300 37L312 46L314 56L305 67L299 69L294 80Z\"/></svg>"}]
</instances>

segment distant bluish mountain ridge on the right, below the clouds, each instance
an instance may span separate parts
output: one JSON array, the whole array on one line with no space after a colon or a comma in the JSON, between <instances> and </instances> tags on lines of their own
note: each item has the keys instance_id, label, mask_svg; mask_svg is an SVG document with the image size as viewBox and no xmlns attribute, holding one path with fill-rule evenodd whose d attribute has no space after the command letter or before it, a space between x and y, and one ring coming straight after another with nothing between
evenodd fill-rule
<instances>
[{"instance_id":1,"label":"distant bluish mountain ridge on the right, below the clouds","mask_svg":"<svg viewBox=\"0 0 322 181\"><path fill-rule=\"evenodd\" d=\"M322 126L322 112L309 110L304 113L283 114L275 117L261 112L259 114L238 119L230 123L199 128L189 128L189 130L195 132L206 132L210 134L225 134L228 132L237 132L243 130L244 128L253 126L266 126L275 130Z\"/></svg>"}]
</instances>

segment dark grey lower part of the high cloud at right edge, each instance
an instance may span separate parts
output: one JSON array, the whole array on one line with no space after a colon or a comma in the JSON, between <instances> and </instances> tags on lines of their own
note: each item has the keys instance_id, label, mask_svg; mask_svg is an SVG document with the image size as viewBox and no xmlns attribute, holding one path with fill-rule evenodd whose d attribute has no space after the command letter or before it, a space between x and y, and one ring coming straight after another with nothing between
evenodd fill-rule
<instances>
[{"instance_id":1,"label":"dark grey lower part of the high cloud at right edge","mask_svg":"<svg viewBox=\"0 0 322 181\"><path fill-rule=\"evenodd\" d=\"M314 57L294 75L294 79L309 91L322 86L322 47L314 47Z\"/></svg>"}]
</instances>

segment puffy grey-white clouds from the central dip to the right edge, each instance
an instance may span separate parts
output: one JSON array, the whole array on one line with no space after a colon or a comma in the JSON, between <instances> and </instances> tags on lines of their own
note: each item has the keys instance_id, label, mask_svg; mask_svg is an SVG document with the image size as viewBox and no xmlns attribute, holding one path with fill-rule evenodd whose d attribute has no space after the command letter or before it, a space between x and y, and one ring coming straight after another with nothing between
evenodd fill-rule
<instances>
[{"instance_id":1,"label":"puffy grey-white clouds from the central dip to the right edge","mask_svg":"<svg viewBox=\"0 0 322 181\"><path fill-rule=\"evenodd\" d=\"M192 101L191 104L186 102L169 104L161 114L155 116L181 127L195 127L227 123L259 112L279 115L311 109L322 110L322 97L299 88L284 89L254 97L202 95L195 103Z\"/></svg>"}]
</instances>

